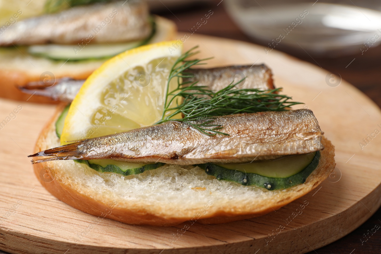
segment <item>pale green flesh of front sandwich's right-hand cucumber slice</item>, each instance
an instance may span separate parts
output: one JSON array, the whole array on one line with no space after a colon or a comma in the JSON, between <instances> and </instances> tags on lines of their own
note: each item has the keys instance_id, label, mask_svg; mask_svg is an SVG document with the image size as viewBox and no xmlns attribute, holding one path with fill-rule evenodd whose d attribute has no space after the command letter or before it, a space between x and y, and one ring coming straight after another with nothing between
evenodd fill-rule
<instances>
[{"instance_id":1,"label":"pale green flesh of front sandwich's right-hand cucumber slice","mask_svg":"<svg viewBox=\"0 0 381 254\"><path fill-rule=\"evenodd\" d=\"M292 155L277 160L253 161L252 163L216 164L222 168L253 173L266 177L286 178L298 174L314 159L315 153Z\"/></svg>"}]
</instances>

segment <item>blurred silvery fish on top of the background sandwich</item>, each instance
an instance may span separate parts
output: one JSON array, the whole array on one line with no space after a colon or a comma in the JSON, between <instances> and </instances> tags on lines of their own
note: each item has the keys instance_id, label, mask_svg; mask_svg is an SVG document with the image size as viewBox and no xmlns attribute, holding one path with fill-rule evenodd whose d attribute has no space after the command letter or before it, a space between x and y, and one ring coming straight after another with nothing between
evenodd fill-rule
<instances>
[{"instance_id":1,"label":"blurred silvery fish on top of the background sandwich","mask_svg":"<svg viewBox=\"0 0 381 254\"><path fill-rule=\"evenodd\" d=\"M75 6L18 21L0 35L0 46L126 42L149 36L148 6L138 1ZM113 17L113 18L111 18ZM91 38L93 35L93 38Z\"/></svg>"}]
</instances>

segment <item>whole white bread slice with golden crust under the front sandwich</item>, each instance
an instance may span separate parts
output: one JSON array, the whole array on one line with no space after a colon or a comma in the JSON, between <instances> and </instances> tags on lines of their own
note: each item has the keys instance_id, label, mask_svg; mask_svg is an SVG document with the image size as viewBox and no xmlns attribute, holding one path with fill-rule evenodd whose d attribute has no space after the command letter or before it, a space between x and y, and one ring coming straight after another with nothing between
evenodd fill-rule
<instances>
[{"instance_id":1,"label":"whole white bread slice with golden crust under the front sandwich","mask_svg":"<svg viewBox=\"0 0 381 254\"><path fill-rule=\"evenodd\" d=\"M64 105L42 130L35 152L59 146L55 122ZM94 216L128 224L170 226L186 220L224 223L261 216L305 195L335 168L335 152L323 137L318 167L306 179L286 190L269 191L234 182L218 181L194 166L165 165L139 175L99 173L72 160L34 165L41 184L59 200ZM49 169L54 180L43 181ZM53 177L52 177L53 178ZM110 209L110 207L112 209Z\"/></svg>"}]
</instances>

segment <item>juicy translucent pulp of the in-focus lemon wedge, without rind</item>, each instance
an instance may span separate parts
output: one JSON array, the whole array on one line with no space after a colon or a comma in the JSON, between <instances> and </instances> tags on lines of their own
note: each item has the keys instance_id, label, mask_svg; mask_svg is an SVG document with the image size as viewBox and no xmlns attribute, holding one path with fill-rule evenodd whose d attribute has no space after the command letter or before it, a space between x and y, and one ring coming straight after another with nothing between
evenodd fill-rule
<instances>
[{"instance_id":1,"label":"juicy translucent pulp of the in-focus lemon wedge, without rind","mask_svg":"<svg viewBox=\"0 0 381 254\"><path fill-rule=\"evenodd\" d=\"M168 76L177 58L158 58L136 66L111 81L99 98L101 106L91 115L86 138L149 126L162 118ZM170 90L177 86L171 80Z\"/></svg>"}]
</instances>

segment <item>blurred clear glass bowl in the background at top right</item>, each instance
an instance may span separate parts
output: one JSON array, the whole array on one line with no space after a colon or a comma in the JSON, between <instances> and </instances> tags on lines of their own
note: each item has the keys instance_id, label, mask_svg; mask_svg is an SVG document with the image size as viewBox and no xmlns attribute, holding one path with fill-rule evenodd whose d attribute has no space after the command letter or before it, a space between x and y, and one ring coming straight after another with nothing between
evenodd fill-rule
<instances>
[{"instance_id":1,"label":"blurred clear glass bowl in the background at top right","mask_svg":"<svg viewBox=\"0 0 381 254\"><path fill-rule=\"evenodd\" d=\"M336 57L381 43L381 12L355 5L225 0L225 7L243 32L267 42L268 50L287 46Z\"/></svg>"}]
</instances>

